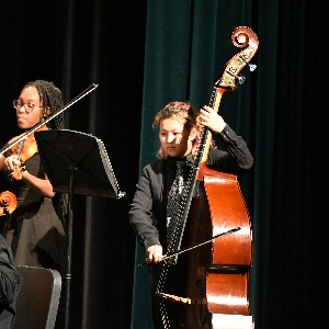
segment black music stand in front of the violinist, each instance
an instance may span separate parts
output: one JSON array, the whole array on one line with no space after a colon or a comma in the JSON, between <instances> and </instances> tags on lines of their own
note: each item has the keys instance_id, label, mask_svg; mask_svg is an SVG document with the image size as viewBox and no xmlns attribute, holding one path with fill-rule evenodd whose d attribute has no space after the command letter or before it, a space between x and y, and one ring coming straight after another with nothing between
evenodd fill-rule
<instances>
[{"instance_id":1,"label":"black music stand in front of the violinist","mask_svg":"<svg viewBox=\"0 0 329 329\"><path fill-rule=\"evenodd\" d=\"M68 193L68 250L66 274L65 328L69 328L71 281L73 194L120 198L121 192L104 144L101 139L68 129L36 132L35 139L43 166L54 192Z\"/></svg>"}]
</instances>

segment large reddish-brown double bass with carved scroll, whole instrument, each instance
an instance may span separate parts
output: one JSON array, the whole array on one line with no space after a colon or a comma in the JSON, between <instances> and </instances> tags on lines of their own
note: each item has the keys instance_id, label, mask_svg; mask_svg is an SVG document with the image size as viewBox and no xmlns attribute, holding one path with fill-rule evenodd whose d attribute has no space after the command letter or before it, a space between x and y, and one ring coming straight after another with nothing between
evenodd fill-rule
<instances>
[{"instance_id":1,"label":"large reddish-brown double bass with carved scroll, whole instrument","mask_svg":"<svg viewBox=\"0 0 329 329\"><path fill-rule=\"evenodd\" d=\"M259 44L256 33L247 26L235 29L231 41L243 49L227 63L223 77L214 86L209 106L217 112L222 95L235 90L240 71ZM253 328L248 293L252 261L250 217L237 177L207 168L211 139L211 132L204 128L174 219L177 234L168 247L170 257L174 256L177 261L181 256L174 250L179 251L182 243L197 247L183 248L188 250L181 260L185 269L185 296L166 291L172 266L166 257L160 273L157 295L164 329L171 328L166 299L184 306L179 328ZM227 231L231 234L226 235Z\"/></svg>"}]
</instances>

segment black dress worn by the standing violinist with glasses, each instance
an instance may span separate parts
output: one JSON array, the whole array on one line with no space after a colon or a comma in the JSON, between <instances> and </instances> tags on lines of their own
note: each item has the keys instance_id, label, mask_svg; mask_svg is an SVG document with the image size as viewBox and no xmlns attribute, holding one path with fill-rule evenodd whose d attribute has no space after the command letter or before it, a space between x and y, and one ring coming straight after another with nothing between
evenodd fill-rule
<instances>
[{"instance_id":1,"label":"black dress worn by the standing violinist with glasses","mask_svg":"<svg viewBox=\"0 0 329 329\"><path fill-rule=\"evenodd\" d=\"M31 174L45 178L38 154L25 161L25 168ZM9 188L18 198L18 207L9 216L3 236L11 246L16 265L54 269L65 274L67 242L59 195L45 197L22 180L11 181Z\"/></svg>"}]
</instances>

